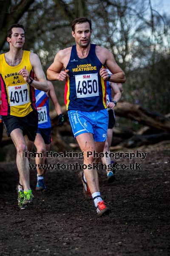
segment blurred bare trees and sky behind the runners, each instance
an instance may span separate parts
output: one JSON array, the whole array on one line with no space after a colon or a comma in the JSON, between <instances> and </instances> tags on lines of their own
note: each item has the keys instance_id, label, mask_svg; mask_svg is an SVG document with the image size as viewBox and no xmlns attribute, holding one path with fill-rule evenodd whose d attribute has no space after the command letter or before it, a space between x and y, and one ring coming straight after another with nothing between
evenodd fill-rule
<instances>
[{"instance_id":1,"label":"blurred bare trees and sky behind the runners","mask_svg":"<svg viewBox=\"0 0 170 256\"><path fill-rule=\"evenodd\" d=\"M170 18L154 9L154 0L1 0L0 4L1 52L8 51L8 27L22 23L25 49L40 56L46 73L56 52L74 44L71 22L89 17L92 43L110 49L125 70L123 99L162 114L170 112ZM54 84L64 104L64 83Z\"/></svg>"}]
</instances>

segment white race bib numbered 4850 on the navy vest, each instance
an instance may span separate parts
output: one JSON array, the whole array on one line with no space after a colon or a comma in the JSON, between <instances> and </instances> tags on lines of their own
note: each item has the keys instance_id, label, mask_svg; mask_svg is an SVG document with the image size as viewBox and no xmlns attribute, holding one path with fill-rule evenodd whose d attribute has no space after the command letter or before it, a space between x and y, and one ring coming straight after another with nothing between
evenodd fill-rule
<instances>
[{"instance_id":1,"label":"white race bib numbered 4850 on the navy vest","mask_svg":"<svg viewBox=\"0 0 170 256\"><path fill-rule=\"evenodd\" d=\"M77 98L99 96L99 82L97 73L76 75Z\"/></svg>"}]
</instances>

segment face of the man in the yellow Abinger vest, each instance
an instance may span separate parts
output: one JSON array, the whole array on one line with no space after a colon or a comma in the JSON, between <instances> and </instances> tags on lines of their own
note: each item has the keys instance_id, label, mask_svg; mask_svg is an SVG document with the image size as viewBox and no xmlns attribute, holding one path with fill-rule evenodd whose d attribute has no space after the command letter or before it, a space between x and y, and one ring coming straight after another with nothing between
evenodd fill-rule
<instances>
[{"instance_id":1,"label":"face of the man in the yellow Abinger vest","mask_svg":"<svg viewBox=\"0 0 170 256\"><path fill-rule=\"evenodd\" d=\"M22 28L12 28L11 38L7 37L10 47L22 49L25 43L25 33Z\"/></svg>"}]
</instances>

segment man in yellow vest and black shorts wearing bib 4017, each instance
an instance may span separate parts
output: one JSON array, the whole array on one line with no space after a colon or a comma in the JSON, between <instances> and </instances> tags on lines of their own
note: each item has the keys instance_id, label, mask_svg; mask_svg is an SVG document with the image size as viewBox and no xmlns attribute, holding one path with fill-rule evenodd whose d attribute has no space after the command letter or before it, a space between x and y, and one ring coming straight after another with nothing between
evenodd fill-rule
<instances>
[{"instance_id":1,"label":"man in yellow vest and black shorts wearing bib 4017","mask_svg":"<svg viewBox=\"0 0 170 256\"><path fill-rule=\"evenodd\" d=\"M0 55L0 83L2 104L0 115L8 136L17 149L18 206L26 209L32 204L29 184L29 162L23 151L30 151L38 127L34 88L48 91L48 83L37 54L23 50L25 30L13 24L7 32L9 51ZM38 81L34 80L34 73ZM25 137L26 135L26 137Z\"/></svg>"}]
</instances>

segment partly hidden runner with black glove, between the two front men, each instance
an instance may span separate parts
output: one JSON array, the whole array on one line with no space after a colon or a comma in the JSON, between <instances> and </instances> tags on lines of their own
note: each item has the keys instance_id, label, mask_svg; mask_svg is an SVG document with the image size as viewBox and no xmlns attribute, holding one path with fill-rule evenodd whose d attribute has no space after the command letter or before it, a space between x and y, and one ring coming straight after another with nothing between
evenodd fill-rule
<instances>
[{"instance_id":1,"label":"partly hidden runner with black glove, between the two front men","mask_svg":"<svg viewBox=\"0 0 170 256\"><path fill-rule=\"evenodd\" d=\"M37 81L36 76L35 76L35 80ZM48 81L48 85L49 85L49 90L47 93L41 90L35 90L36 106L38 111L38 130L37 130L37 135L35 137L34 145L37 148L37 153L43 154L43 157L38 157L38 155L36 155L35 163L37 165L47 163L46 151L49 151L50 143L52 141L51 140L51 121L49 116L49 98L51 98L54 108L57 114L59 115L57 125L62 126L64 122L62 109L58 103L54 86L50 81ZM40 169L37 166L36 190L43 191L47 189L44 183L45 171L46 169Z\"/></svg>"}]
</instances>

